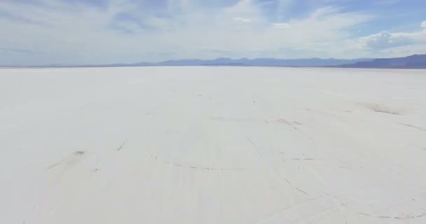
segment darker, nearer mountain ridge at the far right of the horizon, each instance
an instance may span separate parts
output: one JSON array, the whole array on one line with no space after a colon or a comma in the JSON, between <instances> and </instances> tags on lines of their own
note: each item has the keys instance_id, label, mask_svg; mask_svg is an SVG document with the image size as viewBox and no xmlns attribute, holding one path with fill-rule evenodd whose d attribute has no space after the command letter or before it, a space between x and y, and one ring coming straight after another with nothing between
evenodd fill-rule
<instances>
[{"instance_id":1,"label":"darker, nearer mountain ridge at the far right of the horizon","mask_svg":"<svg viewBox=\"0 0 426 224\"><path fill-rule=\"evenodd\" d=\"M378 69L426 69L426 55L408 57L380 58L371 61L343 64L343 68L378 68Z\"/></svg>"}]
</instances>

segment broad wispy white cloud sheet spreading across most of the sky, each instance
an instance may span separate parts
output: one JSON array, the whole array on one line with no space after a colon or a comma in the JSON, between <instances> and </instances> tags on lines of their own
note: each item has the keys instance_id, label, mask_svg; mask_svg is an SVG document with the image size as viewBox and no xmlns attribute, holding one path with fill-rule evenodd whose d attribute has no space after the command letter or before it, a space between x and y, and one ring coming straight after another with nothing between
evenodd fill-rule
<instances>
[{"instance_id":1,"label":"broad wispy white cloud sheet spreading across most of the sky","mask_svg":"<svg viewBox=\"0 0 426 224\"><path fill-rule=\"evenodd\" d=\"M331 6L282 20L267 15L255 0L235 0L233 4L221 0L227 5L213 8L202 6L202 0L165 0L159 9L145 7L160 2L151 0L110 0L105 8L62 0L41 1L46 6L0 0L2 11L22 18L0 20L0 42L13 42L2 47L31 52L0 51L1 63L153 62L224 54L348 58L368 55L373 48L397 48L406 38L390 33L352 39L350 29L357 31L357 26L373 17ZM280 12L285 13L291 1L280 1ZM420 38L420 33L413 34L409 41Z\"/></svg>"}]
</instances>

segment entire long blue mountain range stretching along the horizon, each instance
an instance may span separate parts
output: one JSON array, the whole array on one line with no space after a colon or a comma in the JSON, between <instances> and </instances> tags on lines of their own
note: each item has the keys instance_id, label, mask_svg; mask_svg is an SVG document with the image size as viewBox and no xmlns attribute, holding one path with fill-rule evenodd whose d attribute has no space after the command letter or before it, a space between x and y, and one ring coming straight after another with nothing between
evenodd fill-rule
<instances>
[{"instance_id":1,"label":"entire long blue mountain range stretching along the horizon","mask_svg":"<svg viewBox=\"0 0 426 224\"><path fill-rule=\"evenodd\" d=\"M341 68L400 68L426 69L426 55L411 55L408 57L380 59L178 59L164 62L139 62L134 64L79 64L79 65L48 65L32 67L114 67L114 66L295 66L295 67L341 67ZM27 66L28 67L28 66Z\"/></svg>"}]
</instances>

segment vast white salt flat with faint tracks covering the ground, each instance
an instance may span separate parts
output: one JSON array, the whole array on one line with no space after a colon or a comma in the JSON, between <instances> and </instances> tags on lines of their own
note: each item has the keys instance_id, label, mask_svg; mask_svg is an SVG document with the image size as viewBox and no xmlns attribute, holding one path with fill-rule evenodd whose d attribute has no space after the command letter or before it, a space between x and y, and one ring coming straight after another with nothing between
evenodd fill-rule
<instances>
[{"instance_id":1,"label":"vast white salt flat with faint tracks covering the ground","mask_svg":"<svg viewBox=\"0 0 426 224\"><path fill-rule=\"evenodd\" d=\"M426 71L0 69L0 223L426 223Z\"/></svg>"}]
</instances>

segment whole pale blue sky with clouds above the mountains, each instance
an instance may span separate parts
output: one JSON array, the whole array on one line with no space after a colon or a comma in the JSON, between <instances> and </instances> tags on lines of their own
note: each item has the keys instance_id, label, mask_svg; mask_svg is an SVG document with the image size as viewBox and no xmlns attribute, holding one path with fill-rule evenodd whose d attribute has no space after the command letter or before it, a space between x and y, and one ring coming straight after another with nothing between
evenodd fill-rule
<instances>
[{"instance_id":1,"label":"whole pale blue sky with clouds above the mountains","mask_svg":"<svg viewBox=\"0 0 426 224\"><path fill-rule=\"evenodd\" d=\"M0 65L426 53L425 0L0 0Z\"/></svg>"}]
</instances>

